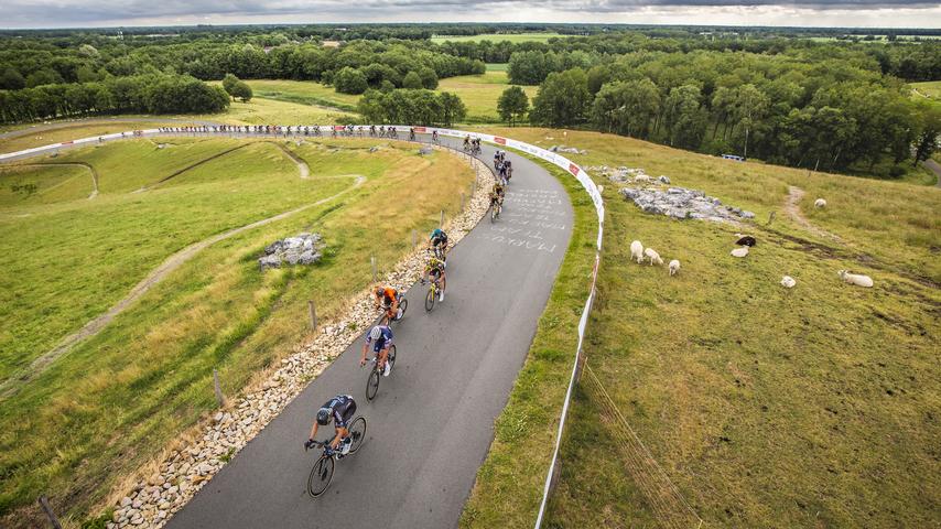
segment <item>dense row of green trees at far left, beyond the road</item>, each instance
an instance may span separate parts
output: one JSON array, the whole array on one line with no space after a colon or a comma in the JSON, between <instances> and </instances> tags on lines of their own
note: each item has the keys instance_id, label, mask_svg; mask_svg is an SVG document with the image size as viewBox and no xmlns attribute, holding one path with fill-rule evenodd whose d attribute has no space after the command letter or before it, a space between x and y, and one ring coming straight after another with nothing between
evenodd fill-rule
<instances>
[{"instance_id":1,"label":"dense row of green trees at far left, beyond the road","mask_svg":"<svg viewBox=\"0 0 941 529\"><path fill-rule=\"evenodd\" d=\"M225 110L228 105L229 96L221 87L190 76L113 77L0 91L0 121L88 114L210 114Z\"/></svg>"}]
</instances>

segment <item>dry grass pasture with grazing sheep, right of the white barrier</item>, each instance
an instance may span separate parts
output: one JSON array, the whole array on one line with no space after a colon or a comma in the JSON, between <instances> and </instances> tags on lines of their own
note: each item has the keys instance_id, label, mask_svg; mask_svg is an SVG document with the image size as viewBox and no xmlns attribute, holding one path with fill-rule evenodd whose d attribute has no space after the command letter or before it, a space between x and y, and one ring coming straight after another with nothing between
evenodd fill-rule
<instances>
[{"instance_id":1,"label":"dry grass pasture with grazing sheep, right of the white barrier","mask_svg":"<svg viewBox=\"0 0 941 529\"><path fill-rule=\"evenodd\" d=\"M561 136L497 133L541 144ZM736 260L728 251L743 228L642 214L598 180L606 250L588 364L706 526L937 521L941 190L808 176L593 132L570 131L567 143L587 149L572 156L585 166L666 174L761 220L746 228L758 245ZM789 185L807 191L798 206L815 231L787 214ZM825 209L812 207L818 196ZM680 274L631 262L632 239L679 259ZM876 287L847 285L840 269L867 273ZM785 274L797 288L778 284ZM651 527L663 506L639 493L645 475L631 474L597 402L580 390L548 527ZM519 447L506 453L521 457ZM512 463L491 455L488 464L488 490L520 479L500 475Z\"/></svg>"}]
</instances>

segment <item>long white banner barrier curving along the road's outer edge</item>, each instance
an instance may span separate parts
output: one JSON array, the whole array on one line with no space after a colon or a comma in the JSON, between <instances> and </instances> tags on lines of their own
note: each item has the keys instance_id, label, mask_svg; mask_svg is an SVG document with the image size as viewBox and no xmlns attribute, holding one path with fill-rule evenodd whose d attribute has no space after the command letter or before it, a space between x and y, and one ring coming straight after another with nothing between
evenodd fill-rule
<instances>
[{"instance_id":1,"label":"long white banner barrier curving along the road's outer edge","mask_svg":"<svg viewBox=\"0 0 941 529\"><path fill-rule=\"evenodd\" d=\"M227 126L227 127L229 130L223 131L223 130L218 130L218 129L213 130L212 127L199 126L199 127L192 127L193 130L181 130L177 133L192 132L194 136L218 134L218 136L227 136L227 137L231 136L234 132L239 134L239 136L246 136L246 137L252 137L252 136L259 136L259 137L270 137L270 136L278 136L278 137L294 136L294 137L296 137L296 136L301 136L301 137L303 137L304 136L303 133L300 133L300 130L296 126L292 126L293 132L290 134L283 132L286 130L285 127L281 127L282 132L261 132L261 131L255 132L252 130L239 131L239 130L230 130L230 129L238 127L238 126ZM241 126L241 127L246 127L246 126ZM304 127L304 126L301 126L301 127ZM337 128L337 127L339 127L339 128ZM367 125L367 126L361 126L361 127L364 127L365 129L368 129L369 126ZM390 127L393 128L397 132L408 132L410 129L412 129L412 127L408 127L408 126L386 126L386 129L388 130ZM187 127L172 127L170 129L173 130L173 129L186 129L186 128ZM343 130L343 127L342 126L318 126L318 127L309 126L307 127L309 131L314 131L315 129L318 130L321 133L323 133L323 132L332 132L332 131ZM585 172L584 169L582 169L581 166L578 166L578 164L572 162L567 158L559 155L558 153L549 151L547 149L542 149L540 147L536 147L536 145L532 145L532 144L529 144L529 143L526 143L522 141L510 139L510 138L504 138L500 136L486 134L486 133L480 133L480 132L468 132L468 131L462 131L462 130L456 130L456 129L442 129L442 128L434 128L434 127L413 127L413 129L414 129L415 133L419 133L419 134L431 134L431 133L436 131L439 136L445 136L445 137L451 137L451 138L462 139L462 138L465 138L468 136L472 138L479 138L482 141L486 141L488 143L495 143L497 145L506 147L509 149L516 149L518 151L522 151L527 154L531 154L536 158L539 158L541 160L550 162L553 165L561 168L562 170L566 171L569 174L575 176L575 179L578 181L578 183L582 184L582 187L585 188L585 192L588 193L588 196L591 196L592 203L595 206L595 212L598 215L598 237L597 237L596 248L595 248L595 264L594 264L594 268L592 271L592 287L591 287L591 290L588 292L588 299L585 301L585 305L582 309L582 317L578 321L578 342L577 342L577 346L576 346L575 352L574 352L575 358L574 358L574 361L572 365L572 375L569 379L569 388L565 392L565 400L562 403L562 412L561 412L561 417L559 420L559 429L558 429L558 432L555 435L555 446L553 447L552 461L551 461L551 463L549 465L549 469L545 474L545 485L543 487L542 501L540 503L539 514L538 514L537 519L536 519L536 528L539 529L542 526L542 520L543 520L543 517L545 515L545 506L549 501L549 496L551 495L552 488L554 486L554 476L556 473L556 468L559 466L559 447L560 447L560 444L562 443L562 434L563 434L563 431L565 429L565 419L567 418L569 407L570 407L571 401L572 401L572 390L575 386L575 382L578 379L578 374L580 374L581 366L583 363L582 343L583 343L584 337L585 337L585 326L587 325L587 322L588 322L588 313L592 310L592 304L593 304L594 299L595 299L595 283L597 281L597 277L598 277L598 263L601 262L602 240L603 240L603 236L604 236L605 206L604 206L604 202L602 201L602 193L601 193L601 190L598 190L598 187L592 181L592 179L588 177L588 174ZM25 149L25 150L17 151L17 152L3 153L3 154L0 154L0 162L13 161L13 160L18 160L20 158L30 158L30 156L43 154L43 153L57 153L61 149L88 147L88 145L95 145L98 143L112 141L112 140L144 138L144 137L150 137L150 136L161 136L163 133L164 132L161 131L160 129L147 129L147 130L134 130L134 131L130 131L130 132L116 132L112 134L104 134L104 136L96 136L96 137L90 137L90 138L83 138L83 139L74 140L74 141L65 141L65 142L61 142L61 143L53 143L50 145ZM401 140L405 141L405 140L408 140L408 138L402 137ZM443 216L443 213L444 212L442 212L442 216ZM375 269L374 269L374 276L375 276Z\"/></svg>"}]
</instances>

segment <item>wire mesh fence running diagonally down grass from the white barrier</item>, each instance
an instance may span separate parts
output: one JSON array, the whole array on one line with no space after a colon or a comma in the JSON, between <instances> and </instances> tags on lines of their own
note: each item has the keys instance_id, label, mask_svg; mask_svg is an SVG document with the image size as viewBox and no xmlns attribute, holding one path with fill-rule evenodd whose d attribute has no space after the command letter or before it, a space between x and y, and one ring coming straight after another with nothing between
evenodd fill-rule
<instances>
[{"instance_id":1,"label":"wire mesh fence running diagonally down grass from the white barrier","mask_svg":"<svg viewBox=\"0 0 941 529\"><path fill-rule=\"evenodd\" d=\"M702 527L703 520L690 506L680 490L663 472L663 468L647 450L624 413L617 408L602 381L585 363L585 376L580 387L601 410L603 423L616 441L618 452L625 462L625 469L637 488L643 495L650 510L661 527L668 529L688 529Z\"/></svg>"}]
</instances>

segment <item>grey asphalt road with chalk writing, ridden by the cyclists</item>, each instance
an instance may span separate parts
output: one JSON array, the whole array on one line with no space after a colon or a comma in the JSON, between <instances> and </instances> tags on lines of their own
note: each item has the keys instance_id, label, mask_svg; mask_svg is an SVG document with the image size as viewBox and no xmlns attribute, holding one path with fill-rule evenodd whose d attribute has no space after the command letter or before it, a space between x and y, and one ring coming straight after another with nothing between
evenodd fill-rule
<instances>
[{"instance_id":1,"label":"grey asphalt road with chalk writing, ridden by the cyclists","mask_svg":"<svg viewBox=\"0 0 941 529\"><path fill-rule=\"evenodd\" d=\"M483 159L493 161L493 149ZM425 313L413 285L393 327L398 361L372 402L363 341L350 346L170 520L181 528L456 527L565 253L572 207L537 164L512 156L501 218L485 218L448 257L444 303ZM433 175L429 175L433 177ZM357 401L367 439L338 462L326 494L306 494L303 442L337 393ZM324 434L320 435L324 438Z\"/></svg>"}]
</instances>

